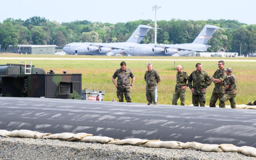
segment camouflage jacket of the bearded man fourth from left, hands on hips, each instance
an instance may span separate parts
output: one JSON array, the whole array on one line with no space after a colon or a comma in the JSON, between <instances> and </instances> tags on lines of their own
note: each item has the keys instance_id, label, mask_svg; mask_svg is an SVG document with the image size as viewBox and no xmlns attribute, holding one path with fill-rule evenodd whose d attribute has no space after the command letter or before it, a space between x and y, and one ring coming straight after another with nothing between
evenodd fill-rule
<instances>
[{"instance_id":1,"label":"camouflage jacket of the bearded man fourth from left, hands on hips","mask_svg":"<svg viewBox=\"0 0 256 160\"><path fill-rule=\"evenodd\" d=\"M192 81L193 81L193 85L192 85ZM209 85L211 85L211 83L212 83L211 77L205 71L201 71L197 73L195 70L188 77L189 88L190 89L194 88L196 90L192 94L205 93L205 92L202 92L201 90L203 88L207 88Z\"/></svg>"}]
</instances>

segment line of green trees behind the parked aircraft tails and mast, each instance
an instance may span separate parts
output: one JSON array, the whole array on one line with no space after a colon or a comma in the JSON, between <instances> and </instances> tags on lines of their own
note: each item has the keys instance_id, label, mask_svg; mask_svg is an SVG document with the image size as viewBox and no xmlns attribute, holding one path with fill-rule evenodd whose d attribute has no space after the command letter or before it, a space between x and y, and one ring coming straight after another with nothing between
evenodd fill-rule
<instances>
[{"instance_id":1,"label":"line of green trees behind the parked aircraft tails and mast","mask_svg":"<svg viewBox=\"0 0 256 160\"><path fill-rule=\"evenodd\" d=\"M155 26L152 20L136 20L126 23L101 23L88 20L76 20L59 23L34 16L27 20L8 18L0 23L0 45L5 51L8 46L19 44L55 44L63 46L72 42L125 42L138 25ZM157 21L157 43L181 44L192 43L203 29L210 24L221 28L212 36L208 52L217 52L222 47L227 52L249 54L256 49L256 25L246 25L237 20L176 20ZM141 41L143 44L154 43L154 30L150 30Z\"/></svg>"}]
</instances>

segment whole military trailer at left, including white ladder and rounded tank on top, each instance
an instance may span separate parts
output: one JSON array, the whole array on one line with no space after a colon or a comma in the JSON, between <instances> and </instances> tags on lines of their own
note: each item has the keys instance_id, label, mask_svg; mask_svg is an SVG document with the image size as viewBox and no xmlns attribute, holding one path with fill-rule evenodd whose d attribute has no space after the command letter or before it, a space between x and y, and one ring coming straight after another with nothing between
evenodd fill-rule
<instances>
[{"instance_id":1,"label":"whole military trailer at left, including white ladder and rounded tank on top","mask_svg":"<svg viewBox=\"0 0 256 160\"><path fill-rule=\"evenodd\" d=\"M22 63L0 66L3 97L82 99L82 74L54 74L52 70L45 74L32 62Z\"/></svg>"}]
</instances>

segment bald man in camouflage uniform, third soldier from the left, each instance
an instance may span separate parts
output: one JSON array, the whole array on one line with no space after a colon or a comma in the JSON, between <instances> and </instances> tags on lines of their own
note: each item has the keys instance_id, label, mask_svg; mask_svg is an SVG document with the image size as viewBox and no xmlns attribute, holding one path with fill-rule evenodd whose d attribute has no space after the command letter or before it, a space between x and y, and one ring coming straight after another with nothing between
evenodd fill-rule
<instances>
[{"instance_id":1,"label":"bald man in camouflage uniform, third soldier from the left","mask_svg":"<svg viewBox=\"0 0 256 160\"><path fill-rule=\"evenodd\" d=\"M178 65L176 67L177 74L176 74L176 86L175 92L172 96L172 105L177 105L177 101L180 98L180 105L185 106L185 99L186 99L186 88L188 87L187 80L188 80L188 73L182 70L182 66Z\"/></svg>"}]
</instances>

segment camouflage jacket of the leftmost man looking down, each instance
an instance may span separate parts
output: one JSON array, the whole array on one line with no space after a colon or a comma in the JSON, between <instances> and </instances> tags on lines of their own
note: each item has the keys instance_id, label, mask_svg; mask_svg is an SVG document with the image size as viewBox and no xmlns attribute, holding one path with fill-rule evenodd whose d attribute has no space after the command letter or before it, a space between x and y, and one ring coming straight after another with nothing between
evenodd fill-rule
<instances>
[{"instance_id":1,"label":"camouflage jacket of the leftmost man looking down","mask_svg":"<svg viewBox=\"0 0 256 160\"><path fill-rule=\"evenodd\" d=\"M125 71L122 71L122 69L117 69L114 73L113 77L116 79L117 77L117 87L121 88L129 88L130 86L130 77L134 77L132 71L128 68L125 69Z\"/></svg>"}]
</instances>

